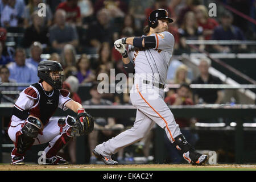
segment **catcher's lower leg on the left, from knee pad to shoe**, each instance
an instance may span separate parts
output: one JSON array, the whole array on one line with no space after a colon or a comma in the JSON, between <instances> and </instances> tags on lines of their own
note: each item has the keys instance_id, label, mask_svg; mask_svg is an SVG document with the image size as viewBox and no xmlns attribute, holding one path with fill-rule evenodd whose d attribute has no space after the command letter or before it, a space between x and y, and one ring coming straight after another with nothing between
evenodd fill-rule
<instances>
[{"instance_id":1,"label":"catcher's lower leg on the left, from knee pad to shoe","mask_svg":"<svg viewBox=\"0 0 256 182\"><path fill-rule=\"evenodd\" d=\"M24 126L16 133L16 142L13 151L11 152L11 162L14 165L22 165L25 152L35 142L35 138L42 129L41 122L34 118L28 117Z\"/></svg>"}]
</instances>

